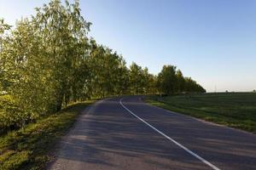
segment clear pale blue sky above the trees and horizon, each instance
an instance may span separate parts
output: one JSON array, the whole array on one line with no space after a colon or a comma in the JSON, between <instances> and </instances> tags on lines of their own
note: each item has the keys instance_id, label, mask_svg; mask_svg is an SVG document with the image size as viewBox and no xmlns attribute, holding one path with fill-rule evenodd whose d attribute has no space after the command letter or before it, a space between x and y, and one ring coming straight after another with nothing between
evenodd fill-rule
<instances>
[{"instance_id":1,"label":"clear pale blue sky above the trees and horizon","mask_svg":"<svg viewBox=\"0 0 256 170\"><path fill-rule=\"evenodd\" d=\"M44 1L0 0L14 24ZM83 0L90 36L154 74L177 65L207 91L256 88L256 1Z\"/></svg>"}]
</instances>

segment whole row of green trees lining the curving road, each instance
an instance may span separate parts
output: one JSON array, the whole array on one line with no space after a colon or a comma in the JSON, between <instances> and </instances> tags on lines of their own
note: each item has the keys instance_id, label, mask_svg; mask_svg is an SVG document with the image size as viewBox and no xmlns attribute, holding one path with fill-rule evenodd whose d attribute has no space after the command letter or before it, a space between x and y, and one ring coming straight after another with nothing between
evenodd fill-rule
<instances>
[{"instance_id":1,"label":"whole row of green trees lining the curving road","mask_svg":"<svg viewBox=\"0 0 256 170\"><path fill-rule=\"evenodd\" d=\"M173 65L156 76L136 63L127 67L122 55L88 36L90 25L79 1L52 0L15 28L0 20L0 129L90 98L205 92Z\"/></svg>"}]
</instances>

